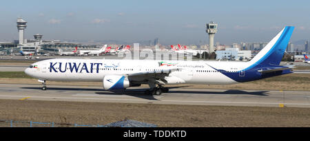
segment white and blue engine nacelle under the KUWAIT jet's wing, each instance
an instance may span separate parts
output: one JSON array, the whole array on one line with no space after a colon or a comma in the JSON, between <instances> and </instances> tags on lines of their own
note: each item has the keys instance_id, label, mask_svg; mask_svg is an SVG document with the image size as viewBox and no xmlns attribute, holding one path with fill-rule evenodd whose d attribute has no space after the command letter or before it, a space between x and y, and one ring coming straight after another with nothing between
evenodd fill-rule
<instances>
[{"instance_id":1,"label":"white and blue engine nacelle under the KUWAIT jet's wing","mask_svg":"<svg viewBox=\"0 0 310 141\"><path fill-rule=\"evenodd\" d=\"M130 81L125 76L107 75L103 78L103 88L110 89L125 89L130 87Z\"/></svg>"}]
</instances>

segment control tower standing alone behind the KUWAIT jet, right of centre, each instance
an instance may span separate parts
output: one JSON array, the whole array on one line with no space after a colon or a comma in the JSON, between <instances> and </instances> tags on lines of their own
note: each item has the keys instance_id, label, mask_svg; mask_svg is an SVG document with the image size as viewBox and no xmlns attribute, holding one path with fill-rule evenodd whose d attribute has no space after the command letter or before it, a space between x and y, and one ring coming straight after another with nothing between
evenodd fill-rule
<instances>
[{"instance_id":1,"label":"control tower standing alone behind the KUWAIT jet, right of centre","mask_svg":"<svg viewBox=\"0 0 310 141\"><path fill-rule=\"evenodd\" d=\"M207 30L205 30L209 34L209 52L210 54L214 52L214 34L218 32L218 24L211 21L210 23L205 24Z\"/></svg>"}]
</instances>

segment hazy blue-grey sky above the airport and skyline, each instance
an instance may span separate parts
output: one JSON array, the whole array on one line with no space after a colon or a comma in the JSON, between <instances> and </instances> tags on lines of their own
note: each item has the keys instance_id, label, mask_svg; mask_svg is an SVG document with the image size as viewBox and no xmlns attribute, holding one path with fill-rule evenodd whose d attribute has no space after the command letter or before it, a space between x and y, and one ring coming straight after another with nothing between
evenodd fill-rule
<instances>
[{"instance_id":1,"label":"hazy blue-grey sky above the airport and skyline","mask_svg":"<svg viewBox=\"0 0 310 141\"><path fill-rule=\"evenodd\" d=\"M209 43L205 23L218 23L215 42L270 41L293 25L291 41L310 39L310 1L1 1L0 41L18 39L16 21L28 23L25 38Z\"/></svg>"}]
</instances>

